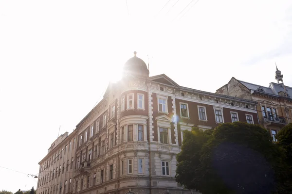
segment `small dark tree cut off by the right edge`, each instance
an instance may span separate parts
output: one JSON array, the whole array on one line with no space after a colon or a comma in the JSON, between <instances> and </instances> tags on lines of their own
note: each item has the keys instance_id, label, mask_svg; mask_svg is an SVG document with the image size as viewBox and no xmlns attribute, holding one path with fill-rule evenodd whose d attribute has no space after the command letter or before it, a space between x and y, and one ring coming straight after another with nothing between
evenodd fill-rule
<instances>
[{"instance_id":1,"label":"small dark tree cut off by the right edge","mask_svg":"<svg viewBox=\"0 0 292 194\"><path fill-rule=\"evenodd\" d=\"M292 166L292 123L286 125L276 135L277 144L284 150L287 162Z\"/></svg>"}]
</instances>

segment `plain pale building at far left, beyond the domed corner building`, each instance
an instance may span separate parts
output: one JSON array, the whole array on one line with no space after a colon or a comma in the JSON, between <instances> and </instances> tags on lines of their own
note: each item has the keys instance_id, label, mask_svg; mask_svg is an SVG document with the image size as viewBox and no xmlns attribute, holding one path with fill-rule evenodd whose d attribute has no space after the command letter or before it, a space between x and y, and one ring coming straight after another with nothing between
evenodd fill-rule
<instances>
[{"instance_id":1,"label":"plain pale building at far left, beyond the domed corner building","mask_svg":"<svg viewBox=\"0 0 292 194\"><path fill-rule=\"evenodd\" d=\"M75 150L75 132L65 132L52 143L47 156L38 163L37 194L72 193Z\"/></svg>"}]
</instances>

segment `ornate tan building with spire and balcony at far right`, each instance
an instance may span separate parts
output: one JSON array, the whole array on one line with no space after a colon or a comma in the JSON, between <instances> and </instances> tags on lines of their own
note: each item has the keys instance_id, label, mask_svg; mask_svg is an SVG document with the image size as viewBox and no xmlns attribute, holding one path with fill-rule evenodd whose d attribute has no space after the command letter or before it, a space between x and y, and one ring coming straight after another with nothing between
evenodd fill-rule
<instances>
[{"instance_id":1,"label":"ornate tan building with spire and balcony at far right","mask_svg":"<svg viewBox=\"0 0 292 194\"><path fill-rule=\"evenodd\" d=\"M292 120L292 88L285 86L283 75L276 67L275 80L269 87L239 81L235 78L219 88L216 94L241 97L258 102L259 123L263 128L269 129L275 139L278 130L289 124Z\"/></svg>"}]
</instances>

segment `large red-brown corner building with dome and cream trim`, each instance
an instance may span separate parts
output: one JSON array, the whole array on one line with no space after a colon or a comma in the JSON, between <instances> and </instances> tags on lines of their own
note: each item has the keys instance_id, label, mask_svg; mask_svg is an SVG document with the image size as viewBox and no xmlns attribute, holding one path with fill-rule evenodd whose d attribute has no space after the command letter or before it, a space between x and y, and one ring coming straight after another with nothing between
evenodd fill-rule
<instances>
[{"instance_id":1,"label":"large red-brown corner building with dome and cream trim","mask_svg":"<svg viewBox=\"0 0 292 194\"><path fill-rule=\"evenodd\" d=\"M255 101L186 88L164 74L149 77L134 54L122 80L110 83L76 126L72 187L52 194L189 194L174 178L183 130L258 124Z\"/></svg>"}]
</instances>

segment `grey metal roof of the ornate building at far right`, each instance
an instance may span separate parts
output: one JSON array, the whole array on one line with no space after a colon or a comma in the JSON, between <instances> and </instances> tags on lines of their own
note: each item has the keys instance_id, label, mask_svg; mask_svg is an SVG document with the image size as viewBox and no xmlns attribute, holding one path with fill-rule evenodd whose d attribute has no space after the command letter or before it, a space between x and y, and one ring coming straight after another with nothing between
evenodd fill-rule
<instances>
[{"instance_id":1,"label":"grey metal roof of the ornate building at far right","mask_svg":"<svg viewBox=\"0 0 292 194\"><path fill-rule=\"evenodd\" d=\"M282 86L282 84L280 84L280 83L271 82L269 87L265 87L265 86L257 85L254 83L249 83L246 81L240 81L240 80L237 80L237 81L239 81L241 84L243 84L249 90L257 91L257 92L262 93L262 94L283 97L283 96L279 95L279 92L285 91L284 86ZM285 85L285 88L286 88L286 92L287 92L288 97L291 98L292 97L292 87Z\"/></svg>"}]
</instances>

